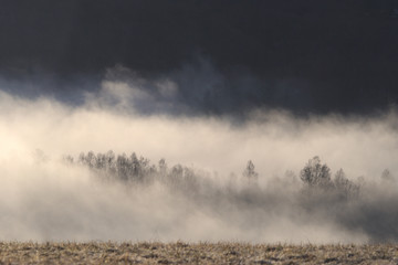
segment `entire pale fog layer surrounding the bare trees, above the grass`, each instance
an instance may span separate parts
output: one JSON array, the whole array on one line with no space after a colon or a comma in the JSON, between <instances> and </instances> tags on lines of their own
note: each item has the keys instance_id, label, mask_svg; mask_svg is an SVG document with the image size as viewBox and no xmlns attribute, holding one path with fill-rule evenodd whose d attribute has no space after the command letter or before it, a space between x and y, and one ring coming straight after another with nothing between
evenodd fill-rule
<instances>
[{"instance_id":1,"label":"entire pale fog layer surrounding the bare trees, above the grass","mask_svg":"<svg viewBox=\"0 0 398 265\"><path fill-rule=\"evenodd\" d=\"M154 97L142 88L147 84L105 80L78 106L0 91L0 240L398 240L397 184L380 180L386 168L392 176L398 172L394 109L366 118L296 117L279 109L256 109L244 114L244 120L145 115L136 112L139 104L175 108L178 89L172 81L156 81L150 85L160 96ZM165 158L169 166L208 173L198 194L187 195L197 191L174 192L159 181L102 181L95 171L62 160L91 150L137 152L154 165ZM342 204L322 194L305 197L297 176L314 156L333 173L343 168L353 181L363 177L360 198ZM259 173L256 188L241 181L248 160ZM296 177L286 179L286 170Z\"/></svg>"}]
</instances>

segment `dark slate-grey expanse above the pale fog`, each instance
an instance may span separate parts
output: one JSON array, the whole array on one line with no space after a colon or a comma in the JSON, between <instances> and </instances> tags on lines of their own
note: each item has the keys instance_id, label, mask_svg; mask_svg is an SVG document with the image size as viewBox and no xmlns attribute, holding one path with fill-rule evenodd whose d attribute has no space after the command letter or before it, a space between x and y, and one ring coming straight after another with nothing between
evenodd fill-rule
<instances>
[{"instance_id":1,"label":"dark slate-grey expanse above the pale fog","mask_svg":"<svg viewBox=\"0 0 398 265\"><path fill-rule=\"evenodd\" d=\"M198 114L253 107L371 114L398 102L397 0L0 0L0 7L3 84L38 83L38 93L78 95L123 65L148 80L171 76L178 100ZM187 65L199 77L184 76ZM209 71L220 82L206 89L190 84L206 84Z\"/></svg>"}]
</instances>

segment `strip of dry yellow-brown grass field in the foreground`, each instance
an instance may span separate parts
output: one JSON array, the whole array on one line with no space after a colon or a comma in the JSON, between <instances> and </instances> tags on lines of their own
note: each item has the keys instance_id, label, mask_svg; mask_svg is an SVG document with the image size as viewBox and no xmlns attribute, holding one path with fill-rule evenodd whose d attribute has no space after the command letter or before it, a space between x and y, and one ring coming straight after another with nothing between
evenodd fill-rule
<instances>
[{"instance_id":1,"label":"strip of dry yellow-brown grass field in the foreground","mask_svg":"<svg viewBox=\"0 0 398 265\"><path fill-rule=\"evenodd\" d=\"M0 264L398 264L398 245L10 242Z\"/></svg>"}]
</instances>

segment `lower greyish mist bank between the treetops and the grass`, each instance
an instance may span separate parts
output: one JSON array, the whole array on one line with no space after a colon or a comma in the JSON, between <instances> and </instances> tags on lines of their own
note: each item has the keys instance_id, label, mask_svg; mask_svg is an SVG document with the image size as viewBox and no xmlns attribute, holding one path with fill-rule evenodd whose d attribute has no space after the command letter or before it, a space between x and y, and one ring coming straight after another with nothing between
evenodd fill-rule
<instances>
[{"instance_id":1,"label":"lower greyish mist bank between the treetops and the grass","mask_svg":"<svg viewBox=\"0 0 398 265\"><path fill-rule=\"evenodd\" d=\"M398 241L392 176L345 179L338 187L336 173L326 188L303 181L305 170L270 178L254 168L248 173L248 165L242 174L220 180L211 172L161 161L154 166L144 158L130 174L121 156L113 160L116 168L93 167L90 153L76 163L67 159L36 152L1 165L1 240ZM251 181L253 176L266 181ZM346 189L352 184L357 189Z\"/></svg>"}]
</instances>

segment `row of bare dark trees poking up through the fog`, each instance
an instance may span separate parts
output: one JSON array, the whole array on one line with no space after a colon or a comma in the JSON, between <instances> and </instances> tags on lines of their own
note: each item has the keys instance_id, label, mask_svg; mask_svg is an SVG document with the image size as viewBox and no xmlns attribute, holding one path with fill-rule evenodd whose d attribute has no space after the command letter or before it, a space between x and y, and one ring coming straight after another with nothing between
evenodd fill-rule
<instances>
[{"instance_id":1,"label":"row of bare dark trees poking up through the fog","mask_svg":"<svg viewBox=\"0 0 398 265\"><path fill-rule=\"evenodd\" d=\"M116 156L113 151L97 155L90 151L81 153L76 161L71 156L65 157L65 160L88 167L105 178L126 182L150 182L158 179L169 184L196 186L203 179L203 172L198 172L192 168L181 165L168 168L165 159L160 159L157 165L151 165L149 159L137 157L135 152L130 156L125 153ZM394 179L388 170L384 171L381 178ZM339 169L332 179L331 169L326 163L322 163L318 157L308 160L300 171L300 179L307 190L335 192L345 199L357 197L360 190L360 183L349 180L343 169ZM251 160L242 172L242 180L250 187L258 187L259 173Z\"/></svg>"}]
</instances>

